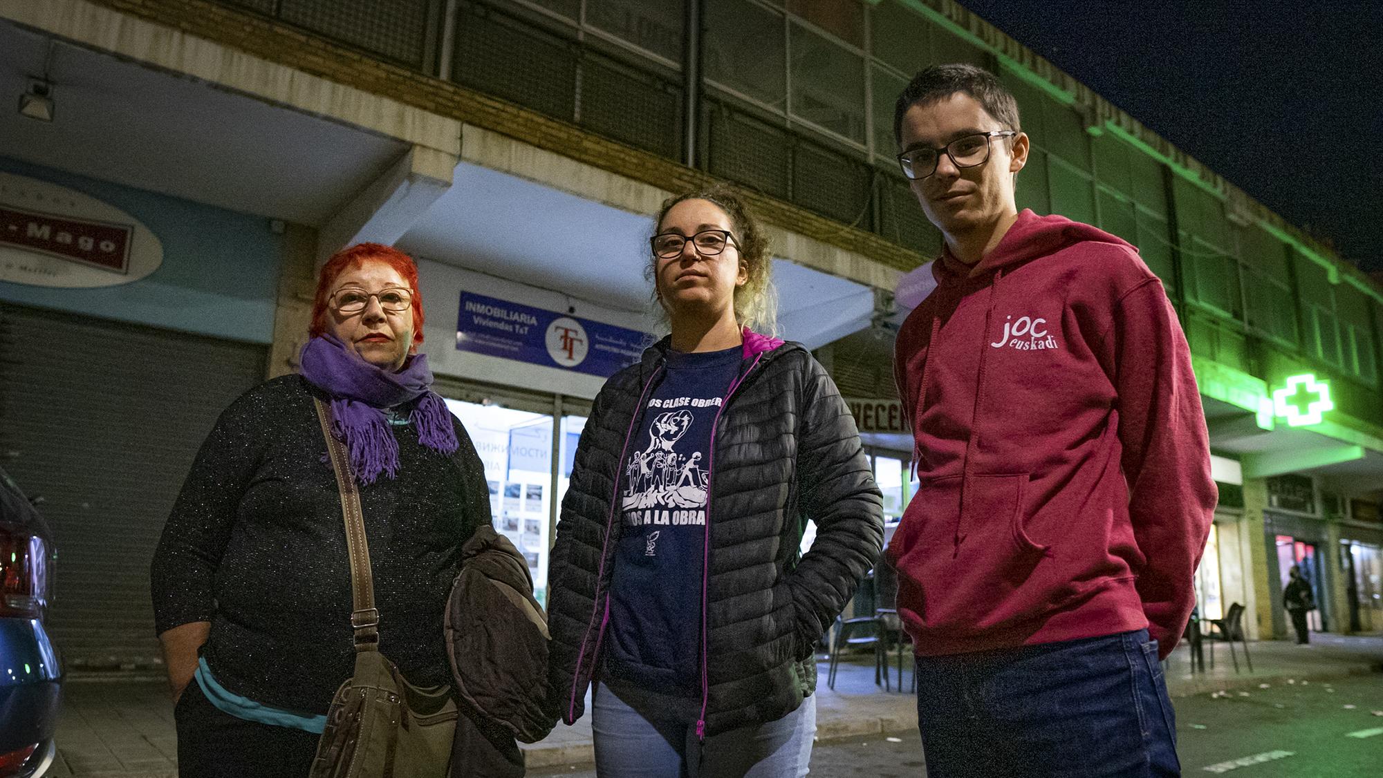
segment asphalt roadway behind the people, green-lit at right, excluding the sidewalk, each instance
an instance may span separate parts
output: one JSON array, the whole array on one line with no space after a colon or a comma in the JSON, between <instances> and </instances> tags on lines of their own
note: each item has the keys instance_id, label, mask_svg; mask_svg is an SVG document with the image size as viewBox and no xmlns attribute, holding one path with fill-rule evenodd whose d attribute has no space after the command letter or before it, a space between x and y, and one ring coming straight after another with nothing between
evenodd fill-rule
<instances>
[{"instance_id":1,"label":"asphalt roadway behind the people, green-lit at right, excluding the sidewalk","mask_svg":"<svg viewBox=\"0 0 1383 778\"><path fill-rule=\"evenodd\" d=\"M1187 775L1245 778L1377 778L1383 766L1383 673L1329 683L1283 679L1268 688L1176 701ZM530 775L595 778L586 768ZM916 730L819 743L812 775L927 775Z\"/></svg>"}]
</instances>

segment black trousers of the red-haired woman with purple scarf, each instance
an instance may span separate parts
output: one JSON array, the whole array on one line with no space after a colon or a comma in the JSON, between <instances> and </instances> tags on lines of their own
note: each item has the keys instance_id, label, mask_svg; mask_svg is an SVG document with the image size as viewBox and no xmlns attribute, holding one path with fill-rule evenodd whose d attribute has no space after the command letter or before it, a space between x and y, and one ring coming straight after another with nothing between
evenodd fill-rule
<instances>
[{"instance_id":1,"label":"black trousers of the red-haired woman with purple scarf","mask_svg":"<svg viewBox=\"0 0 1383 778\"><path fill-rule=\"evenodd\" d=\"M236 719L194 680L173 709L180 778L307 778L319 735Z\"/></svg>"}]
</instances>

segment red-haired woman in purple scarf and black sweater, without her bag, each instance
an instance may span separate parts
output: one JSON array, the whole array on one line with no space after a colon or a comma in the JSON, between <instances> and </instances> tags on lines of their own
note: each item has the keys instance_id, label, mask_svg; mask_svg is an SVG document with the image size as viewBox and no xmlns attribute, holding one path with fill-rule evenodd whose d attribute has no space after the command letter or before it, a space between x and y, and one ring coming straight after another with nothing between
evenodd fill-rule
<instances>
[{"instance_id":1,"label":"red-haired woman in purple scarf and black sweater, without her bag","mask_svg":"<svg viewBox=\"0 0 1383 778\"><path fill-rule=\"evenodd\" d=\"M184 778L307 775L351 676L342 500L314 398L361 484L380 649L416 685L451 683L443 608L490 504L480 457L415 354L422 325L407 254L337 253L301 373L248 391L202 445L152 567Z\"/></svg>"}]
</instances>

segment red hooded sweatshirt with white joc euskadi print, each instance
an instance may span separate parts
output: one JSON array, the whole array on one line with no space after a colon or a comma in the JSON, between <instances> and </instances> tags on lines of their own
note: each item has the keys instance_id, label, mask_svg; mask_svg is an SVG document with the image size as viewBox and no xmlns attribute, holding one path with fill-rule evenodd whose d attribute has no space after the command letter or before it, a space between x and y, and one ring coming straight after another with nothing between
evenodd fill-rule
<instances>
[{"instance_id":1,"label":"red hooded sweatshirt with white joc euskadi print","mask_svg":"<svg viewBox=\"0 0 1383 778\"><path fill-rule=\"evenodd\" d=\"M1144 626L1166 656L1216 506L1191 352L1124 240L1025 210L950 252L895 372L921 486L888 547L920 655Z\"/></svg>"}]
</instances>

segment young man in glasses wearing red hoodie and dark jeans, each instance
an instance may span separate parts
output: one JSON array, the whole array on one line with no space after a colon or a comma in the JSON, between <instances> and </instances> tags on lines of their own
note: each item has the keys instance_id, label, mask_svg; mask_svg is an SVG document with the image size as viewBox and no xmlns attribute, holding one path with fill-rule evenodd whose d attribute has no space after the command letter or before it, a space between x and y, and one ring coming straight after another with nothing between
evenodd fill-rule
<instances>
[{"instance_id":1,"label":"young man in glasses wearing red hoodie and dark jeans","mask_svg":"<svg viewBox=\"0 0 1383 778\"><path fill-rule=\"evenodd\" d=\"M929 778L1177 775L1159 659L1216 506L1191 354L1124 240L1018 213L1028 135L969 65L898 99L946 238L895 372L921 484L888 547Z\"/></svg>"}]
</instances>

